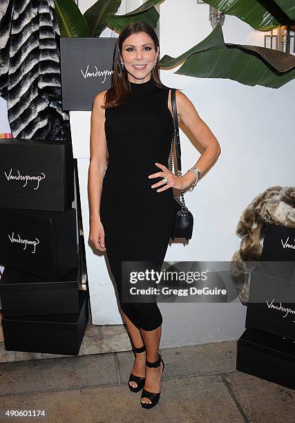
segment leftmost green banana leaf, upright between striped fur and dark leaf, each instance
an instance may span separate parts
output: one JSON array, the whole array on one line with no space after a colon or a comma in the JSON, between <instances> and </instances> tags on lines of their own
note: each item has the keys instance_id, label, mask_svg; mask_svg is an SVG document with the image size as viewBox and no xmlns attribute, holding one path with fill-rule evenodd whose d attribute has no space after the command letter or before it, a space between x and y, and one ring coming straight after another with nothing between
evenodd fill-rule
<instances>
[{"instance_id":1,"label":"leftmost green banana leaf, upright between striped fur and dark leaf","mask_svg":"<svg viewBox=\"0 0 295 423\"><path fill-rule=\"evenodd\" d=\"M86 19L73 0L55 0L61 37L88 37Z\"/></svg>"}]
</instances>

